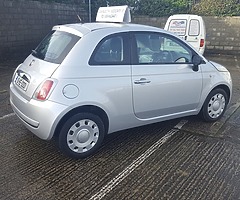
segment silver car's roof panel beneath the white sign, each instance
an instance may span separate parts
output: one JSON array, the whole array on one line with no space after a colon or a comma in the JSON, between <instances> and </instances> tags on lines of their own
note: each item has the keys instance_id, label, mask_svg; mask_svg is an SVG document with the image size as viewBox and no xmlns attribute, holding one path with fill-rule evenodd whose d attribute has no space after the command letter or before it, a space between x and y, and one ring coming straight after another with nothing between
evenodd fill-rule
<instances>
[{"instance_id":1,"label":"silver car's roof panel beneath the white sign","mask_svg":"<svg viewBox=\"0 0 240 200\"><path fill-rule=\"evenodd\" d=\"M122 30L122 31L159 31L163 29L142 25L142 24L132 24L132 23L104 23L104 22L93 22L93 23L76 23L76 24L65 24L54 26L53 30L62 30L73 33L82 37L92 31L98 31L108 29L109 32Z\"/></svg>"}]
</instances>

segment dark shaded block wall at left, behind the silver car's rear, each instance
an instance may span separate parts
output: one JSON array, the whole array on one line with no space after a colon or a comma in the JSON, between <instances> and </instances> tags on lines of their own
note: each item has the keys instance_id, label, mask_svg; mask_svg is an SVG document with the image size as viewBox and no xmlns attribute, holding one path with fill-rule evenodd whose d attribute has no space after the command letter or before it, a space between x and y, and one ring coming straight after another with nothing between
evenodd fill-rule
<instances>
[{"instance_id":1,"label":"dark shaded block wall at left, behind the silver car's rear","mask_svg":"<svg viewBox=\"0 0 240 200\"><path fill-rule=\"evenodd\" d=\"M87 21L83 7L83 3L0 0L0 60L26 57L52 26L79 22L76 13Z\"/></svg>"}]
</instances>

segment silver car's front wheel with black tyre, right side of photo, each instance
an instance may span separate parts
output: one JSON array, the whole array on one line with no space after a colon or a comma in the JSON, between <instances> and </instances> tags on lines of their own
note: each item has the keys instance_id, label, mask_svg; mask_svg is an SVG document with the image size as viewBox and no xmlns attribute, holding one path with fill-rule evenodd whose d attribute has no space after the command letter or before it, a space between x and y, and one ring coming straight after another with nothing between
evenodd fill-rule
<instances>
[{"instance_id":1,"label":"silver car's front wheel with black tyre, right side of photo","mask_svg":"<svg viewBox=\"0 0 240 200\"><path fill-rule=\"evenodd\" d=\"M214 89L203 104L201 111L203 119L207 122L214 122L220 119L226 110L227 101L228 97L223 89Z\"/></svg>"}]
</instances>

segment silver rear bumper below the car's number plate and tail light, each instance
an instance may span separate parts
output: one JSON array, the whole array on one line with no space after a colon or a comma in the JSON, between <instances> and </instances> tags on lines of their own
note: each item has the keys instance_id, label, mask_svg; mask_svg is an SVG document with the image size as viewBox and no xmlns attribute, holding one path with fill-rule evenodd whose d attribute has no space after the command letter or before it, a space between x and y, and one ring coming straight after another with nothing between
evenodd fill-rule
<instances>
[{"instance_id":1,"label":"silver rear bumper below the car's number plate and tail light","mask_svg":"<svg viewBox=\"0 0 240 200\"><path fill-rule=\"evenodd\" d=\"M54 134L61 114L66 110L65 105L51 101L27 101L11 84L10 103L13 111L22 120L28 130L41 139L50 140Z\"/></svg>"}]
</instances>

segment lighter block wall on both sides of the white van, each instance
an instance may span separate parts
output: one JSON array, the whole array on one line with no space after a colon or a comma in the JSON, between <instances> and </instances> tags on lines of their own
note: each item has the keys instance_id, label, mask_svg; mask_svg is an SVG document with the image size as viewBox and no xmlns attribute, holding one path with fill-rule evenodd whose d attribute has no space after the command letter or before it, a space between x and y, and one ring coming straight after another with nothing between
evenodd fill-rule
<instances>
[{"instance_id":1,"label":"lighter block wall on both sides of the white van","mask_svg":"<svg viewBox=\"0 0 240 200\"><path fill-rule=\"evenodd\" d=\"M240 17L203 17L206 24L206 53L240 54ZM164 28L166 17L133 16L134 23Z\"/></svg>"}]
</instances>

